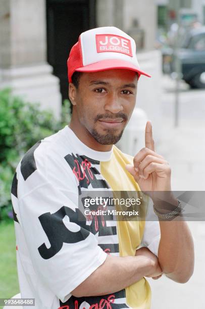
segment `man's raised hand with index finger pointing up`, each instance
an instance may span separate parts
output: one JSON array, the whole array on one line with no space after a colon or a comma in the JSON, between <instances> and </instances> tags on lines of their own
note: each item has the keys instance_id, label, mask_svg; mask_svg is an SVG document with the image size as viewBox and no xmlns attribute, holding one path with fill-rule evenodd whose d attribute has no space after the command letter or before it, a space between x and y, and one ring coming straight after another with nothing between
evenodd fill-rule
<instances>
[{"instance_id":1,"label":"man's raised hand with index finger pointing up","mask_svg":"<svg viewBox=\"0 0 205 309\"><path fill-rule=\"evenodd\" d=\"M133 163L125 168L142 191L171 191L171 169L169 163L155 152L149 121L145 128L145 148L137 153Z\"/></svg>"}]
</instances>

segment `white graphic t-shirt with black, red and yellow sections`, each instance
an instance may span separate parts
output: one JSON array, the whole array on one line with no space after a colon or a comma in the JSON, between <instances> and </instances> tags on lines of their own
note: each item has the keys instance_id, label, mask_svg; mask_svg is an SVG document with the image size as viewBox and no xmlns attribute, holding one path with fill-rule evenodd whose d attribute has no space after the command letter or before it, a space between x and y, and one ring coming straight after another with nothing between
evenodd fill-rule
<instances>
[{"instance_id":1,"label":"white graphic t-shirt with black, red and yellow sections","mask_svg":"<svg viewBox=\"0 0 205 309\"><path fill-rule=\"evenodd\" d=\"M158 254L158 221L78 220L82 191L139 190L125 170L132 160L115 145L87 147L68 126L22 158L12 183L17 267L21 297L35 298L35 308L150 308L145 278L108 295L71 295L107 254L134 255L142 245Z\"/></svg>"}]
</instances>

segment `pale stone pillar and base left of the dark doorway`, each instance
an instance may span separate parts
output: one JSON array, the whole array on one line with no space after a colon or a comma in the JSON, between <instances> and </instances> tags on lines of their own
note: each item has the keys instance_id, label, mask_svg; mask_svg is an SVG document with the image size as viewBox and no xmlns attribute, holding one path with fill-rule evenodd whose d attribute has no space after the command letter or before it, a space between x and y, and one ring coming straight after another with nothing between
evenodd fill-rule
<instances>
[{"instance_id":1,"label":"pale stone pillar and base left of the dark doorway","mask_svg":"<svg viewBox=\"0 0 205 309\"><path fill-rule=\"evenodd\" d=\"M40 102L59 118L59 79L46 63L44 0L0 2L0 88L10 87L27 101Z\"/></svg>"}]
</instances>

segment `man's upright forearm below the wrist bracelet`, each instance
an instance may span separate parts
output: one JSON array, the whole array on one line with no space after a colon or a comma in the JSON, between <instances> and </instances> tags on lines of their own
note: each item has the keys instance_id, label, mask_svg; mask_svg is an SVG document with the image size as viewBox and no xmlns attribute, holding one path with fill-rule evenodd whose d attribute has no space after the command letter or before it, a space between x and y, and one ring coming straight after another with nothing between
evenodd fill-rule
<instances>
[{"instance_id":1,"label":"man's upright forearm below the wrist bracelet","mask_svg":"<svg viewBox=\"0 0 205 309\"><path fill-rule=\"evenodd\" d=\"M185 221L160 221L161 240L158 259L163 273L185 283L194 269L193 240Z\"/></svg>"}]
</instances>

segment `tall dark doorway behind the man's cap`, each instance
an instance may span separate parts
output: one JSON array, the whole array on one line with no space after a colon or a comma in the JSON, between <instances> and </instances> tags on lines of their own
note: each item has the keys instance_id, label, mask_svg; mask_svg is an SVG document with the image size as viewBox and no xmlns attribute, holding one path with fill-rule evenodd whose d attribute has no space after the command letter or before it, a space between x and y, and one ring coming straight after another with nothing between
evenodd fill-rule
<instances>
[{"instance_id":1,"label":"tall dark doorway behind the man's cap","mask_svg":"<svg viewBox=\"0 0 205 309\"><path fill-rule=\"evenodd\" d=\"M67 59L81 32L96 27L95 0L46 0L47 61L68 98Z\"/></svg>"}]
</instances>

